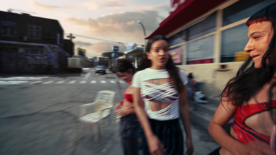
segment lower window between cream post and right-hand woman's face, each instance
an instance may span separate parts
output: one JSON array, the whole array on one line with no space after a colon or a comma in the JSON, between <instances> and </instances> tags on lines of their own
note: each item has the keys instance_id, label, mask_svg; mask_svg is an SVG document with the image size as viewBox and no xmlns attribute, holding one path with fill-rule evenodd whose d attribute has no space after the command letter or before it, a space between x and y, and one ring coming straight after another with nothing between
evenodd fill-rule
<instances>
[{"instance_id":1,"label":"lower window between cream post and right-hand woman's face","mask_svg":"<svg viewBox=\"0 0 276 155\"><path fill-rule=\"evenodd\" d=\"M235 54L244 51L248 42L245 23L221 32L221 63L235 61Z\"/></svg>"}]
</instances>

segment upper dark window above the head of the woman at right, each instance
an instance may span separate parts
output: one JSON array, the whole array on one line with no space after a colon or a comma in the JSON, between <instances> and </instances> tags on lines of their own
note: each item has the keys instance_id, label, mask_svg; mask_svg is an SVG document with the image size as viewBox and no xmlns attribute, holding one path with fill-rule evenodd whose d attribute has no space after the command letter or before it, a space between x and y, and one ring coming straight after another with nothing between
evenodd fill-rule
<instances>
[{"instance_id":1,"label":"upper dark window above the head of the woman at right","mask_svg":"<svg viewBox=\"0 0 276 155\"><path fill-rule=\"evenodd\" d=\"M250 17L254 12L260 10L275 0L242 0L237 1L223 10L223 26Z\"/></svg>"}]
</instances>

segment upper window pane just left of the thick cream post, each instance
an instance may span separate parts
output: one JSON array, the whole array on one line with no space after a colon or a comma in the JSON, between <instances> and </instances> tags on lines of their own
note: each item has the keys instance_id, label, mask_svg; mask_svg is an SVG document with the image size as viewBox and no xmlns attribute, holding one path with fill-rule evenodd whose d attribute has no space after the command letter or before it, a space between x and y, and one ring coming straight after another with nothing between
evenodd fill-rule
<instances>
[{"instance_id":1,"label":"upper window pane just left of the thick cream post","mask_svg":"<svg viewBox=\"0 0 276 155\"><path fill-rule=\"evenodd\" d=\"M217 12L187 29L188 41L215 32Z\"/></svg>"}]
</instances>

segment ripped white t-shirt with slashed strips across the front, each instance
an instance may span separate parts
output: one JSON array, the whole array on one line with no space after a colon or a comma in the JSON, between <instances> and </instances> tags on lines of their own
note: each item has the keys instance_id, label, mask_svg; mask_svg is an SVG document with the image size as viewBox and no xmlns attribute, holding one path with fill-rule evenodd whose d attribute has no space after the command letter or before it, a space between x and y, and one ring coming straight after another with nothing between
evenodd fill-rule
<instances>
[{"instance_id":1,"label":"ripped white t-shirt with slashed strips across the front","mask_svg":"<svg viewBox=\"0 0 276 155\"><path fill-rule=\"evenodd\" d=\"M179 76L182 83L186 85L188 83L188 78L184 70L179 69ZM145 111L149 118L159 121L179 118L179 93L175 89L173 83L168 82L157 85L155 83L146 82L153 79L168 79L169 77L166 69L154 70L151 68L141 70L133 76L132 87L140 88L141 98L145 103ZM149 104L150 101L160 101L169 103L169 105L162 110L152 111Z\"/></svg>"}]
</instances>

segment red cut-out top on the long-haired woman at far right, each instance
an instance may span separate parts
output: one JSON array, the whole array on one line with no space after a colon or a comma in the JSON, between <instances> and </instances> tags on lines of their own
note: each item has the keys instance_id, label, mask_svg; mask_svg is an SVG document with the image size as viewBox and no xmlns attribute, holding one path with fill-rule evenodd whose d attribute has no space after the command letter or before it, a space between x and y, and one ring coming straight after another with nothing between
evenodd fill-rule
<instances>
[{"instance_id":1,"label":"red cut-out top on the long-haired woman at far right","mask_svg":"<svg viewBox=\"0 0 276 155\"><path fill-rule=\"evenodd\" d=\"M259 114L260 112L268 111L271 108L276 107L276 101L271 101L271 103L255 103L250 105L242 105L237 108L235 120L232 124L232 128L241 143L250 143L251 141L263 141L265 143L270 143L270 136L259 134L253 129L248 127L244 121L249 116L254 114Z\"/></svg>"}]
</instances>

